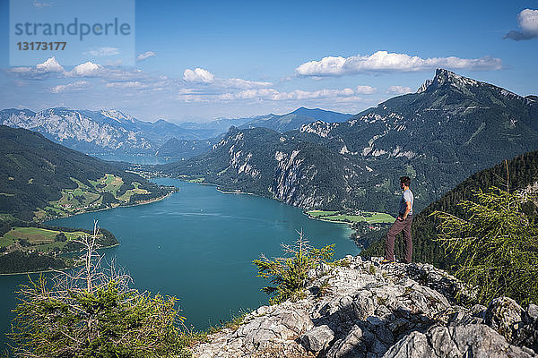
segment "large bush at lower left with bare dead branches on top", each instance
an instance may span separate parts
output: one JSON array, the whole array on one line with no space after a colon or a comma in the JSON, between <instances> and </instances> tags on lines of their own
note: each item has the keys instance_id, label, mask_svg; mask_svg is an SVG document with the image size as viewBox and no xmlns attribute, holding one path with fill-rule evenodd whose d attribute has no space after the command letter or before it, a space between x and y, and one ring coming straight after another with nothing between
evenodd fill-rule
<instances>
[{"instance_id":1,"label":"large bush at lower left with bare dead branches on top","mask_svg":"<svg viewBox=\"0 0 538 358\"><path fill-rule=\"evenodd\" d=\"M104 273L95 251L97 227L80 243L86 248L82 268L57 272L22 286L14 312L14 353L22 357L190 356L181 345L184 320L175 297L139 293L131 277L113 268Z\"/></svg>"}]
</instances>

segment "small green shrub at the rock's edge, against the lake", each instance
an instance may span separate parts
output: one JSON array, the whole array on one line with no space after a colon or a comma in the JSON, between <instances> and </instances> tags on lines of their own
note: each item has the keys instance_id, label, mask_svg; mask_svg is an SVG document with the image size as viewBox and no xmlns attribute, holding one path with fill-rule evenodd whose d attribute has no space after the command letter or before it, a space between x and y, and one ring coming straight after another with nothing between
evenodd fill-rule
<instances>
[{"instance_id":1,"label":"small green shrub at the rock's edge, against the lake","mask_svg":"<svg viewBox=\"0 0 538 358\"><path fill-rule=\"evenodd\" d=\"M330 260L334 254L334 244L314 248L301 232L294 245L282 244L282 251L289 256L269 260L262 254L259 260L253 260L258 268L257 277L268 279L272 285L262 289L265 294L273 294L269 299L271 304L303 298L304 289L308 286L308 270L315 268L319 262Z\"/></svg>"}]
</instances>

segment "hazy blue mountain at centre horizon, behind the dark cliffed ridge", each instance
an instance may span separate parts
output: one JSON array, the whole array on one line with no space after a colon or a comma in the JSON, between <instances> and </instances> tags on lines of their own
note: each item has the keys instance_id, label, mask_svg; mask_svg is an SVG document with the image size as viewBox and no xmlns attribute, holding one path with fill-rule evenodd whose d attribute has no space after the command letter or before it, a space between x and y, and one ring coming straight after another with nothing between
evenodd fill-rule
<instances>
[{"instance_id":1,"label":"hazy blue mountain at centre horizon, behind the dark cliffed ridge","mask_svg":"<svg viewBox=\"0 0 538 358\"><path fill-rule=\"evenodd\" d=\"M326 123L340 123L347 121L351 115L325 111L323 109L308 109L300 107L287 115L262 115L239 126L241 129L264 127L273 129L276 132L288 132L299 129L304 124L316 121Z\"/></svg>"}]
</instances>

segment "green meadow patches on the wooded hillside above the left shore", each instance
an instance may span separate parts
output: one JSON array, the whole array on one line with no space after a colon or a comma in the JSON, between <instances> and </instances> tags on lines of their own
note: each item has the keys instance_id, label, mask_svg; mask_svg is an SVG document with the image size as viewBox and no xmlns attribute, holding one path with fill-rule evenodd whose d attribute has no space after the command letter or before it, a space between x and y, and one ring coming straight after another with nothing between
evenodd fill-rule
<instances>
[{"instance_id":1,"label":"green meadow patches on the wooded hillside above the left shore","mask_svg":"<svg viewBox=\"0 0 538 358\"><path fill-rule=\"evenodd\" d=\"M91 185L84 184L71 178L77 184L77 188L62 191L59 200L50 201L45 208L49 214L56 217L64 217L75 213L80 213L88 209L102 209L108 206L117 206L130 202L134 194L149 194L150 192L141 189L140 183L133 183L132 188L121 193L120 189L124 185L121 177L106 174L97 181L90 181ZM108 200L103 201L103 196L108 194ZM110 197L113 198L112 202ZM36 212L36 216L43 216L43 213Z\"/></svg>"}]
</instances>

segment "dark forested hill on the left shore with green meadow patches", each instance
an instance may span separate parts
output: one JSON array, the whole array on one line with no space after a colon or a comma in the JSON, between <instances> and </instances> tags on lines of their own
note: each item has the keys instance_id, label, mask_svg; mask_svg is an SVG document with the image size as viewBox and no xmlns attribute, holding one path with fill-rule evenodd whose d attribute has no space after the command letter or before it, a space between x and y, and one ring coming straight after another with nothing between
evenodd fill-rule
<instances>
[{"instance_id":1,"label":"dark forested hill on the left shore with green meadow patches","mask_svg":"<svg viewBox=\"0 0 538 358\"><path fill-rule=\"evenodd\" d=\"M168 191L37 132L0 125L0 213L30 220L152 200Z\"/></svg>"}]
</instances>

